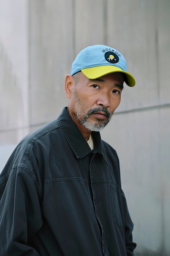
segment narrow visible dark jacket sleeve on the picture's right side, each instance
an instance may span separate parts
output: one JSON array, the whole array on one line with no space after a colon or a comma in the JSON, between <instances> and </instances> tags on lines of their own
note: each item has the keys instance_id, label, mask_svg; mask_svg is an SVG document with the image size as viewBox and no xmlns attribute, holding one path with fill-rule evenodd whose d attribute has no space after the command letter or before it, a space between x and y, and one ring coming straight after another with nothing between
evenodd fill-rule
<instances>
[{"instance_id":1,"label":"narrow visible dark jacket sleeve on the picture's right side","mask_svg":"<svg viewBox=\"0 0 170 256\"><path fill-rule=\"evenodd\" d=\"M126 242L126 253L127 253L127 256L134 256L133 251L136 248L136 243L132 242L133 223L128 211L126 198L122 190L121 190L121 196L122 196L123 207L124 207L124 232L125 232L125 242Z\"/></svg>"}]
</instances>

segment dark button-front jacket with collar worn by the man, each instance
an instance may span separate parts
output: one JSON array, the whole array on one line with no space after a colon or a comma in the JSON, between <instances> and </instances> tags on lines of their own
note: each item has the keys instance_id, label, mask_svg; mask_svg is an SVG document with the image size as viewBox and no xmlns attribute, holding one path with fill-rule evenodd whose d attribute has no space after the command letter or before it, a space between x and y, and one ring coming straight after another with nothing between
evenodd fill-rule
<instances>
[{"instance_id":1,"label":"dark button-front jacket with collar worn by the man","mask_svg":"<svg viewBox=\"0 0 170 256\"><path fill-rule=\"evenodd\" d=\"M18 144L0 175L0 255L132 256L113 148L91 150L66 108Z\"/></svg>"}]
</instances>

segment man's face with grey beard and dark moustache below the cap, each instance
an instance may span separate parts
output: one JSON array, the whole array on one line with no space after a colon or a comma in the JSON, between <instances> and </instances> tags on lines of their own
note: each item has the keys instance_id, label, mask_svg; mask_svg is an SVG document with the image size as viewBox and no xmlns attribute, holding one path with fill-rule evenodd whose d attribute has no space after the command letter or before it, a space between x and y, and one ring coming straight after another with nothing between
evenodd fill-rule
<instances>
[{"instance_id":1,"label":"man's face with grey beard and dark moustache below the cap","mask_svg":"<svg viewBox=\"0 0 170 256\"><path fill-rule=\"evenodd\" d=\"M98 79L88 79L82 72L73 85L68 111L81 130L100 131L110 121L121 99L124 76L111 73Z\"/></svg>"}]
</instances>

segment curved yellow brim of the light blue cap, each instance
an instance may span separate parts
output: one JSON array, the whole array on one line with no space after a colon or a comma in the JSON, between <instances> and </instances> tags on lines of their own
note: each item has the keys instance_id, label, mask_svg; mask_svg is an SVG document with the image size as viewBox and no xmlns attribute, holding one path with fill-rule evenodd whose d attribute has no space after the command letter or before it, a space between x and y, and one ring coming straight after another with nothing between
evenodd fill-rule
<instances>
[{"instance_id":1,"label":"curved yellow brim of the light blue cap","mask_svg":"<svg viewBox=\"0 0 170 256\"><path fill-rule=\"evenodd\" d=\"M128 72L121 70L121 68L113 65L97 66L97 67L87 67L81 70L82 73L89 79L97 79L101 76L105 76L110 73L121 72L125 74L125 83L133 87L135 85L135 78Z\"/></svg>"}]
</instances>

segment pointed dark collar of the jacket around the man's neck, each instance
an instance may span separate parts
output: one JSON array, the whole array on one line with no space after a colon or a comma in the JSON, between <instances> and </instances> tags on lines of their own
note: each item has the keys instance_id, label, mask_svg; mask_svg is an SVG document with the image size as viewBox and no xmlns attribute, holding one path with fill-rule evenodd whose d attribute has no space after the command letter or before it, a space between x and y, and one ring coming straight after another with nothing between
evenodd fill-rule
<instances>
[{"instance_id":1,"label":"pointed dark collar of the jacket around the man's neck","mask_svg":"<svg viewBox=\"0 0 170 256\"><path fill-rule=\"evenodd\" d=\"M67 107L62 110L62 113L57 118L57 122L77 158L84 157L91 152L98 152L103 155L106 161L106 153L102 150L102 140L99 132L92 132L94 143L94 149L92 151L91 148L88 146L88 143L84 139L82 133L80 132L74 121L71 119L67 111Z\"/></svg>"}]
</instances>

